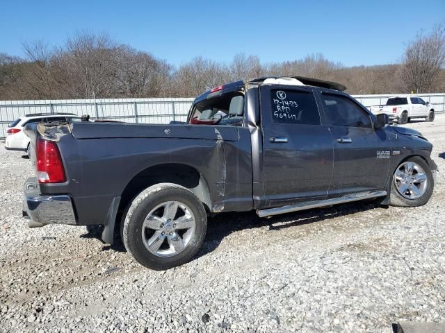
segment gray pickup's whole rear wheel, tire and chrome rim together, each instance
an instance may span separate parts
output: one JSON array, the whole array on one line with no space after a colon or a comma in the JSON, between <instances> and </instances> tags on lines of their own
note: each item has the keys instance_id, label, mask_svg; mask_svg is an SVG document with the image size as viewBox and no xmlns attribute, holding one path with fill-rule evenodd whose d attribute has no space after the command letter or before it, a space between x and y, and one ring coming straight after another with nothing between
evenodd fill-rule
<instances>
[{"instance_id":1,"label":"gray pickup's whole rear wheel, tire and chrome rim together","mask_svg":"<svg viewBox=\"0 0 445 333\"><path fill-rule=\"evenodd\" d=\"M155 270L191 260L202 246L207 214L195 194L163 183L142 191L124 219L124 246L136 261Z\"/></svg>"}]
</instances>

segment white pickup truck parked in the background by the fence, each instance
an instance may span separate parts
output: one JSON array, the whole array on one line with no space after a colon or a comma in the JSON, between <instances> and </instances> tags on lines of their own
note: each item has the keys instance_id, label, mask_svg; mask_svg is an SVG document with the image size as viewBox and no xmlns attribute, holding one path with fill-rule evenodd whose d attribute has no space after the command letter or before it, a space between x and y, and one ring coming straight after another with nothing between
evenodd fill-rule
<instances>
[{"instance_id":1,"label":"white pickup truck parked in the background by the fence","mask_svg":"<svg viewBox=\"0 0 445 333\"><path fill-rule=\"evenodd\" d=\"M386 113L389 120L397 123L407 123L414 118L425 118L434 121L434 108L429 102L419 96L395 96L388 99L386 105L376 105L369 108L373 114Z\"/></svg>"}]
</instances>

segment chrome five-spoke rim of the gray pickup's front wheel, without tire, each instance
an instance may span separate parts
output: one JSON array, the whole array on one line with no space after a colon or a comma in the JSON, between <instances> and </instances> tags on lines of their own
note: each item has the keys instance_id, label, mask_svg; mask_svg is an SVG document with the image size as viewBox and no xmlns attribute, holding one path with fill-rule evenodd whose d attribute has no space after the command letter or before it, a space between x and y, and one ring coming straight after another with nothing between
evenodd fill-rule
<instances>
[{"instance_id":1,"label":"chrome five-spoke rim of the gray pickup's front wheel, without tire","mask_svg":"<svg viewBox=\"0 0 445 333\"><path fill-rule=\"evenodd\" d=\"M428 186L426 173L419 164L405 162L399 165L394 173L394 185L404 198L420 198Z\"/></svg>"}]
</instances>

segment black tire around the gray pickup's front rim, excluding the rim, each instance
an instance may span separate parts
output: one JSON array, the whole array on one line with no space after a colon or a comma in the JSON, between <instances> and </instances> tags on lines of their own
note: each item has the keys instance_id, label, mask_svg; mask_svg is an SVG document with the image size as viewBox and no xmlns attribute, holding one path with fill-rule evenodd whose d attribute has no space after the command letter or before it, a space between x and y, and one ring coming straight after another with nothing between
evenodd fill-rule
<instances>
[{"instance_id":1,"label":"black tire around the gray pickup's front rim, excluding the rim","mask_svg":"<svg viewBox=\"0 0 445 333\"><path fill-rule=\"evenodd\" d=\"M423 172L426 175L426 190L425 193L423 193L422 196L419 198L405 198L402 196L398 189L396 188L394 175L398 168L401 166L401 164L405 162L414 162L416 164L419 164L419 166L423 169ZM428 164L419 156L410 157L407 160L403 161L401 164L399 164L394 170L393 175L391 176L391 193L389 194L389 205L391 206L398 206L398 207L416 207L416 206L422 206L428 203L428 200L430 200L432 195L432 190L434 189L434 179L432 178L432 172L430 170L430 167Z\"/></svg>"}]
</instances>

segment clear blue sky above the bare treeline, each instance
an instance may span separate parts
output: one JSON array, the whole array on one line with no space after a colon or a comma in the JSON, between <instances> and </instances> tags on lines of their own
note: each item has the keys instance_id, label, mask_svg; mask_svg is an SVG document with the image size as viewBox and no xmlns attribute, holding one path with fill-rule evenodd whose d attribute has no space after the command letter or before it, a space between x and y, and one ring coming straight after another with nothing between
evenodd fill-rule
<instances>
[{"instance_id":1,"label":"clear blue sky above the bare treeline","mask_svg":"<svg viewBox=\"0 0 445 333\"><path fill-rule=\"evenodd\" d=\"M261 62L323 53L346 66L385 64L397 62L418 31L445 23L445 0L6 0L0 8L0 52L23 56L23 41L58 46L85 30L173 65L195 56L229 62L236 53Z\"/></svg>"}]
</instances>

